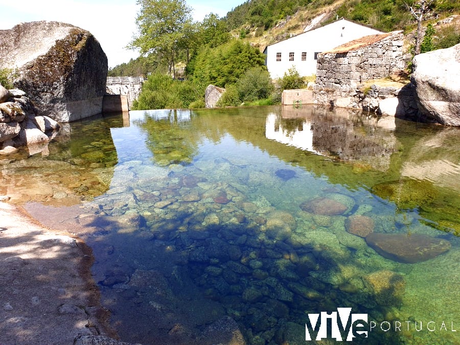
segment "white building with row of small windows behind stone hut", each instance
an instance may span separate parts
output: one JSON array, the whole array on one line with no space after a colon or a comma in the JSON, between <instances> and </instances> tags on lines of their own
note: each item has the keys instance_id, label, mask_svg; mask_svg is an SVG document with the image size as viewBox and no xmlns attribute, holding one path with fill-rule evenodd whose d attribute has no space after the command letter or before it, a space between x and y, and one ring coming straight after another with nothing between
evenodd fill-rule
<instances>
[{"instance_id":1,"label":"white building with row of small windows behind stone hut","mask_svg":"<svg viewBox=\"0 0 460 345\"><path fill-rule=\"evenodd\" d=\"M311 76L316 74L318 53L382 32L352 20L338 19L323 27L267 45L264 50L265 64L273 79L283 77L292 66L301 76Z\"/></svg>"}]
</instances>

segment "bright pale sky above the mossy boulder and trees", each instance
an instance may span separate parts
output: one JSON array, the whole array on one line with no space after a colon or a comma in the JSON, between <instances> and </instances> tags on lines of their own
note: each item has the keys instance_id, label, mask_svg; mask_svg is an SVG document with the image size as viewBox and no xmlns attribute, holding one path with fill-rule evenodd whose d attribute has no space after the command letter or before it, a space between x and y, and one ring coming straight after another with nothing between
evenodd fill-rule
<instances>
[{"instance_id":1,"label":"bright pale sky above the mossy boulder and trees","mask_svg":"<svg viewBox=\"0 0 460 345\"><path fill-rule=\"evenodd\" d=\"M201 21L211 12L223 17L243 2L188 0L187 4L194 9L194 19ZM138 56L124 48L136 31L138 10L135 0L0 0L0 30L36 20L67 22L91 32L113 67Z\"/></svg>"}]
</instances>

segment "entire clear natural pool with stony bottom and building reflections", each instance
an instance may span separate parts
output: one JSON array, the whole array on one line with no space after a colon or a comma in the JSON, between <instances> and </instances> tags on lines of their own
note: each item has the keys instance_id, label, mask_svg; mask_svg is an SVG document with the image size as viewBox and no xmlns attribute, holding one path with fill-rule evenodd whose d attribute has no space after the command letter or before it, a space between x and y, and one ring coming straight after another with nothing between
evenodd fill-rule
<instances>
[{"instance_id":1,"label":"entire clear natural pool with stony bottom and building reflections","mask_svg":"<svg viewBox=\"0 0 460 345\"><path fill-rule=\"evenodd\" d=\"M367 317L355 343L460 343L459 129L313 107L132 111L0 164L2 193L93 248L124 341L308 343L310 314L351 308Z\"/></svg>"}]
</instances>

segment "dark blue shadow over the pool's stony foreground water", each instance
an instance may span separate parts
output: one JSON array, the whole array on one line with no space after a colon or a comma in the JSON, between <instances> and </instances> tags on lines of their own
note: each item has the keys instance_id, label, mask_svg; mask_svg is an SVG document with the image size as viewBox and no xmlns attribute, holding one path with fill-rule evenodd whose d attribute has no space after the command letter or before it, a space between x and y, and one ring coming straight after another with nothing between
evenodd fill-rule
<instances>
[{"instance_id":1,"label":"dark blue shadow over the pool's stony foreground water","mask_svg":"<svg viewBox=\"0 0 460 345\"><path fill-rule=\"evenodd\" d=\"M100 217L88 224L110 229L87 241L98 252L94 277L103 304L125 341L241 343L241 332L248 343L304 343L308 313L350 307L378 324L401 303L392 287L374 294L347 283L337 286L334 274L341 268L326 246L262 239L247 219L235 226L203 227L199 216L183 214L175 222L175 228L153 233ZM199 224L199 231L177 229L184 224ZM327 277L320 281L311 272ZM324 282L328 279L331 283ZM370 332L354 343L403 342L396 332Z\"/></svg>"}]
</instances>

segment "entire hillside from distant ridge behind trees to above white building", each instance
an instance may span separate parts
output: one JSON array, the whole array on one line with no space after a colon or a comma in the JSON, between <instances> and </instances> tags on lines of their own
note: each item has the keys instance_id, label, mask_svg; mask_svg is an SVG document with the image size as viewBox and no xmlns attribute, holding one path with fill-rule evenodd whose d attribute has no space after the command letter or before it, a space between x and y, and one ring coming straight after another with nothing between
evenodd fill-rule
<instances>
[{"instance_id":1,"label":"entire hillside from distant ridge behind trees to above white building","mask_svg":"<svg viewBox=\"0 0 460 345\"><path fill-rule=\"evenodd\" d=\"M413 1L407 0L408 3ZM424 27L435 29L433 49L448 48L460 43L460 0L433 2L424 16ZM233 37L248 41L260 51L274 42L314 29L337 18L347 18L383 31L404 30L407 48L413 44L410 33L416 30L416 20L402 0L248 0L237 6L214 25L228 30ZM446 18L448 18L446 20ZM201 23L200 25L203 25ZM205 30L209 30L207 27ZM214 28L214 26L213 26ZM225 29L226 28L226 29ZM197 36L204 36L198 34ZM211 47L216 42L208 42ZM193 44L192 44L193 46ZM196 44L195 44L196 48ZM195 50L195 53L198 49ZM177 52L175 65L183 71L189 51ZM193 53L191 53L193 56ZM109 71L110 76L148 75L154 71L166 73L161 56L139 57Z\"/></svg>"}]
</instances>

